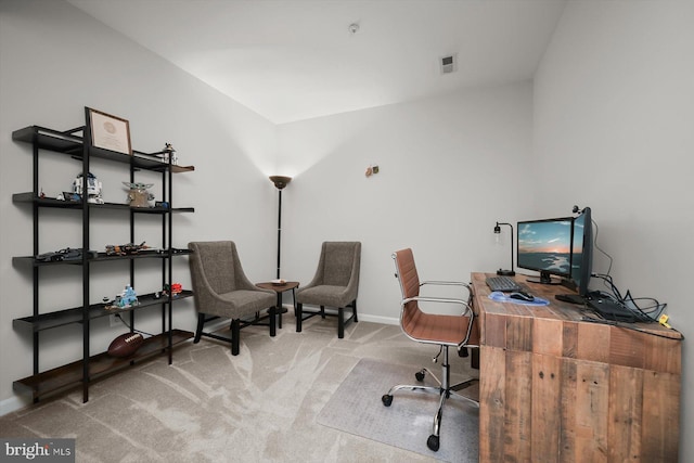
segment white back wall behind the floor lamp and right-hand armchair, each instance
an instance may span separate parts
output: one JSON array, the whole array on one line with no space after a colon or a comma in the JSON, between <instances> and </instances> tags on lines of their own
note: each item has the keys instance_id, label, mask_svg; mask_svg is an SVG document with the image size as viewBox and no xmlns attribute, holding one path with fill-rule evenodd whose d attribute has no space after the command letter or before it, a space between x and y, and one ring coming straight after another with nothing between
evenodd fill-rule
<instances>
[{"instance_id":1,"label":"white back wall behind the floor lamp and right-hand armchair","mask_svg":"<svg viewBox=\"0 0 694 463\"><path fill-rule=\"evenodd\" d=\"M308 282L321 242L361 241L360 317L395 323L394 250L412 247L425 280L507 268L493 227L532 207L517 194L531 187L531 101L524 82L280 126L279 165L295 177L283 275ZM380 172L367 178L371 164Z\"/></svg>"}]
</instances>

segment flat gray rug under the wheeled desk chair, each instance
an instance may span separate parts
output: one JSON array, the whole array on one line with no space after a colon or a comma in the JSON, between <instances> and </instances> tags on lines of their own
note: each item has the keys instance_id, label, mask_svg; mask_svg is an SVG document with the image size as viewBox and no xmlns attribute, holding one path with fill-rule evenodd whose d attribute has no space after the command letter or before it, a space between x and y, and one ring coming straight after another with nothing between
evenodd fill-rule
<instances>
[{"instance_id":1,"label":"flat gray rug under the wheeled desk chair","mask_svg":"<svg viewBox=\"0 0 694 463\"><path fill-rule=\"evenodd\" d=\"M455 398L446 401L440 448L434 452L426 447L426 440L432 434L438 396L401 390L395 394L390 407L381 401L391 386L416 384L414 373L420 368L361 359L321 410L318 423L442 461L477 462L479 409L472 403ZM440 377L434 365L430 370ZM427 375L424 384L435 383Z\"/></svg>"}]
</instances>

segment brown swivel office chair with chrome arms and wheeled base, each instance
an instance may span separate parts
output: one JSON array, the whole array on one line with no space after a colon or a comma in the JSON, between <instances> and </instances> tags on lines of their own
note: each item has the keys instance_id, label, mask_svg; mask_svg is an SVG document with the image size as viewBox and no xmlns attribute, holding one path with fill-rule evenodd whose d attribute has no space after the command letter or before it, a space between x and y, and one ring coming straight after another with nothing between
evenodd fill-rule
<instances>
[{"instance_id":1,"label":"brown swivel office chair with chrome arms and wheeled base","mask_svg":"<svg viewBox=\"0 0 694 463\"><path fill-rule=\"evenodd\" d=\"M434 377L434 380L436 380L439 386L424 386L422 384L393 386L390 390L382 397L382 401L384 406L390 407L393 403L393 395L402 389L423 390L426 393L438 394L440 396L438 411L434 416L432 435L426 441L426 446L429 449L437 451L440 443L439 428L446 400L449 397L458 397L479 407L478 401L458 394L459 390L472 386L478 382L478 380L471 378L462 383L451 385L450 365L448 363L449 347L454 347L459 352L466 352L468 347L479 347L479 327L477 323L475 323L475 314L473 313L470 304L472 300L472 287L468 284L461 282L425 281L420 283L416 266L414 265L414 256L410 248L394 253L393 258L395 259L396 276L400 282L400 290L402 292L402 300L400 303L400 327L410 339L416 340L417 343L440 346L438 355L444 353L444 361L441 363L441 380L436 377L436 375L426 368L423 368L414 375L416 381L422 383L424 382L425 374L428 373ZM458 285L465 288L468 294L468 298L467 300L464 300L442 297L422 297L420 296L420 287L426 284ZM462 307L462 313L460 316L426 313L420 309L420 301L457 304Z\"/></svg>"}]
</instances>

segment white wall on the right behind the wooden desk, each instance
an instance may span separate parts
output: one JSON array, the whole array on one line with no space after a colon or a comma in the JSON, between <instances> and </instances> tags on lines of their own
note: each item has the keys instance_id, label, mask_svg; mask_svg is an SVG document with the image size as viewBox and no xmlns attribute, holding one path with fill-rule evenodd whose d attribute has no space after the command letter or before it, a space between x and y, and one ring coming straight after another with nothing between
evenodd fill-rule
<instances>
[{"instance_id":1,"label":"white wall on the right behind the wooden desk","mask_svg":"<svg viewBox=\"0 0 694 463\"><path fill-rule=\"evenodd\" d=\"M689 339L692 24L691 1L568 2L536 75L534 137L543 207L592 206L619 290L667 303ZM593 271L607 270L597 255ZM682 461L694 454L685 434L694 423L693 371L684 340Z\"/></svg>"}]
</instances>

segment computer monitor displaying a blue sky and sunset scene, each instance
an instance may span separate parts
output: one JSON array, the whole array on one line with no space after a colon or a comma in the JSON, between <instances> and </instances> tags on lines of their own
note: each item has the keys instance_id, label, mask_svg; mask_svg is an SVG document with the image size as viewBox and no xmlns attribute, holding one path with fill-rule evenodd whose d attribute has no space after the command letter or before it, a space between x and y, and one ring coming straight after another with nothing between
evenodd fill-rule
<instances>
[{"instance_id":1,"label":"computer monitor displaying a blue sky and sunset scene","mask_svg":"<svg viewBox=\"0 0 694 463\"><path fill-rule=\"evenodd\" d=\"M519 221L517 232L516 266L540 272L539 280L528 281L560 284L571 276L573 217Z\"/></svg>"}]
</instances>

